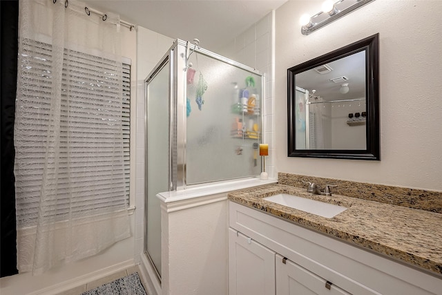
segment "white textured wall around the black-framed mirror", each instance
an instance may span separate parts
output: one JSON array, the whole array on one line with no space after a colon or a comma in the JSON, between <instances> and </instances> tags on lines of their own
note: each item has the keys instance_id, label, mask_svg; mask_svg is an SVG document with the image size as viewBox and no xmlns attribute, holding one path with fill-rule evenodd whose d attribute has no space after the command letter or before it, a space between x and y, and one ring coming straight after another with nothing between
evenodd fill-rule
<instances>
[{"instance_id":1,"label":"white textured wall around the black-framed mirror","mask_svg":"<svg viewBox=\"0 0 442 295\"><path fill-rule=\"evenodd\" d=\"M276 10L277 171L442 190L442 1L377 0L304 36L323 1ZM287 68L380 34L381 161L287 157Z\"/></svg>"}]
</instances>

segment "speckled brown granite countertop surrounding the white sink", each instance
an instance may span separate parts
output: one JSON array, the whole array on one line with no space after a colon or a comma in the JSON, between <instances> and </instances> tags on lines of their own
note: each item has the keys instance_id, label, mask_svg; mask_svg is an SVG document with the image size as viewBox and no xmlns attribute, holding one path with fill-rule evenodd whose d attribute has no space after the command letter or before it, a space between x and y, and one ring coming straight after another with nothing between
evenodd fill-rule
<instances>
[{"instance_id":1,"label":"speckled brown granite countertop surrounding the white sink","mask_svg":"<svg viewBox=\"0 0 442 295\"><path fill-rule=\"evenodd\" d=\"M278 193L340 204L347 210L333 218L262 200ZM305 188L267 184L228 194L229 200L259 209L323 234L334 236L410 265L442 274L442 213L333 194L307 193Z\"/></svg>"}]
</instances>

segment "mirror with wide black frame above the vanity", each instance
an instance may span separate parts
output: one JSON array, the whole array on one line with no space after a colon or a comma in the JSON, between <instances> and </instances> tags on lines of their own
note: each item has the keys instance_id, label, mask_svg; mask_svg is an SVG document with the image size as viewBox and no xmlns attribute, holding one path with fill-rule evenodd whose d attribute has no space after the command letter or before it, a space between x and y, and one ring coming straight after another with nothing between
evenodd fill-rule
<instances>
[{"instance_id":1,"label":"mirror with wide black frame above the vanity","mask_svg":"<svg viewBox=\"0 0 442 295\"><path fill-rule=\"evenodd\" d=\"M381 160L379 35L287 70L288 156Z\"/></svg>"}]
</instances>

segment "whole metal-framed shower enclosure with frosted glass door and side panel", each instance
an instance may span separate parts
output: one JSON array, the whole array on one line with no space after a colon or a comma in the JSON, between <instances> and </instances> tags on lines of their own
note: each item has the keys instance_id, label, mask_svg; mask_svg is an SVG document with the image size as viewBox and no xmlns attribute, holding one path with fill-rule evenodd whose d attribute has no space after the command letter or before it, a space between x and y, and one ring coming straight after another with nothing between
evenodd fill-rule
<instances>
[{"instance_id":1,"label":"whole metal-framed shower enclosure with frosted glass door and side panel","mask_svg":"<svg viewBox=\"0 0 442 295\"><path fill-rule=\"evenodd\" d=\"M263 79L180 39L146 78L144 251L159 278L157 193L260 175Z\"/></svg>"}]
</instances>

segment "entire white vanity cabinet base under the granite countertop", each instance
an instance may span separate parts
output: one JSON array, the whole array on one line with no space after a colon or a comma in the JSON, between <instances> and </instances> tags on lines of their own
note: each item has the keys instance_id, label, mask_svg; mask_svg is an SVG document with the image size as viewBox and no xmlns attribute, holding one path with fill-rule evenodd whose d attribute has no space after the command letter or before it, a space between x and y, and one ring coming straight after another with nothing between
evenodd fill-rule
<instances>
[{"instance_id":1,"label":"entire white vanity cabinet base under the granite countertop","mask_svg":"<svg viewBox=\"0 0 442 295\"><path fill-rule=\"evenodd\" d=\"M231 295L442 294L439 276L231 201L229 227Z\"/></svg>"}]
</instances>

